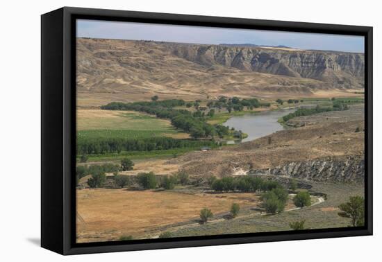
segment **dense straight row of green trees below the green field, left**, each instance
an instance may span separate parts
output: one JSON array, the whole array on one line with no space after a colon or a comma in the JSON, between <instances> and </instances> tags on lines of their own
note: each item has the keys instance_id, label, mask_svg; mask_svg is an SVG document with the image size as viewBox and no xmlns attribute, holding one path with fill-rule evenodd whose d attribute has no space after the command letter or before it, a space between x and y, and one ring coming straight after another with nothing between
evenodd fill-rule
<instances>
[{"instance_id":1,"label":"dense straight row of green trees below the green field, left","mask_svg":"<svg viewBox=\"0 0 382 262\"><path fill-rule=\"evenodd\" d=\"M173 139L171 137L150 137L146 139L78 138L77 155L197 148L201 146L215 147L217 144L210 140Z\"/></svg>"}]
</instances>

